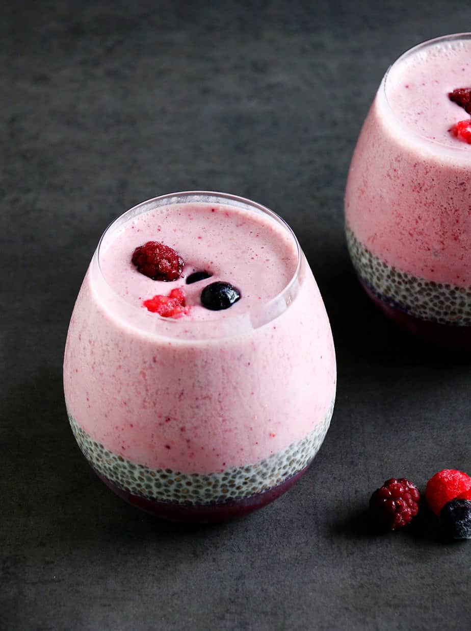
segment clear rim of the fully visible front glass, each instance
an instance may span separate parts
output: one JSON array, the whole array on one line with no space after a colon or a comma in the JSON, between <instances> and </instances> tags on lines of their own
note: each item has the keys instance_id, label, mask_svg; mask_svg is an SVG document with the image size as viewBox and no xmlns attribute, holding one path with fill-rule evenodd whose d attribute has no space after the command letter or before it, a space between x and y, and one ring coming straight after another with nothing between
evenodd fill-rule
<instances>
[{"instance_id":1,"label":"clear rim of the fully visible front glass","mask_svg":"<svg viewBox=\"0 0 471 631\"><path fill-rule=\"evenodd\" d=\"M239 331L240 327L234 326L234 324L238 322L242 322L242 323L247 322L247 324L249 322L252 322L251 315L253 315L254 309L248 309L242 312L241 314L229 316L229 317L224 318L223 320L217 317L212 317L205 320L192 321L191 324L188 322L186 318L176 319L176 318L162 317L159 314L150 313L149 311L142 309L142 305L137 305L137 304L133 305L132 303L128 302L125 298L123 298L118 292L116 292L115 288L113 288L113 286L111 286L108 280L106 279L105 273L103 273L103 269L101 268L101 261L100 261L100 255L104 247L103 244L106 240L106 237L113 232L113 228L120 227L121 225L125 225L130 219L140 216L147 211L152 211L152 209L159 208L159 206L161 207L164 207L167 205L173 206L174 204L178 204L178 203L180 204L185 204L185 203L224 204L224 203L227 203L230 206L231 202L232 202L232 205L235 206L236 208L249 209L258 213L259 215L266 215L270 217L271 220L278 223L278 225L280 225L284 230L287 231L288 235L290 235L290 238L293 240L293 243L295 245L295 249L297 253L297 262L296 262L295 270L293 271L293 274L290 277L290 280L288 280L288 282L283 287L283 289L280 290L280 292L278 292L272 298L265 300L260 305L257 305L255 309L256 313L258 314L262 311L270 312L270 310L273 310L273 315L271 315L271 317L263 319L263 321L260 324L258 324L258 326L244 327L246 328L246 331L242 331L242 333L246 333L247 330L256 329L259 326L263 326L263 324L268 324L268 322L271 322L272 320L276 319L278 315L281 315L281 312L286 310L291 302L291 300L289 300L288 297L290 297L291 293L294 291L295 285L297 284L297 281L299 278L300 268L301 268L301 263L302 263L302 250L298 242L298 239L295 233L293 232L292 228L290 227L290 225L288 225L288 223L280 215L275 213L275 211L251 199L233 195L230 193L218 192L218 191L178 191L178 192L166 193L166 194L159 195L154 198L150 198L145 201L142 201L139 204L135 204L135 206L132 206L132 208L128 209L127 211L122 213L122 215L119 215L108 224L108 226L105 228L105 230L103 231L103 234L101 235L99 239L98 246L96 247L96 250L94 252L94 256L92 259L92 264L93 262L95 263L95 268L98 270L101 280L105 283L106 288L108 288L108 290L111 292L111 295L113 295L113 298L115 298L118 303L120 304L124 303L125 305L127 305L127 309L132 310L133 312L137 314L140 314L140 316L143 319L145 319L144 321L147 321L150 323L159 322L160 325L164 326L165 329L167 329L167 327L169 329L173 329L169 333L169 336L172 336L172 334L178 334L178 331L180 331L183 328L187 328L187 329L197 328L198 330L200 329L210 330L212 329L215 322L222 322L222 321L224 321L225 323L225 325L222 328L223 329L227 328L229 334L222 333L215 337L212 337L212 336L208 337L207 335L203 335L203 336L197 336L196 338L181 338L181 341L185 341L186 339L188 339L188 341L223 339L223 338L227 338L232 335L241 333L241 331ZM274 307L278 303L282 305L284 302L284 298L287 298L285 309L283 309L283 311L281 312L277 312L276 309L274 309ZM110 309L110 307L108 307L108 309ZM145 333L166 336L166 333L164 333L163 331L160 331L157 328L157 326L155 326L155 324L154 326L142 327L142 329ZM232 333L233 330L235 331L234 333ZM179 339L179 336L177 336L176 339Z\"/></svg>"}]
</instances>

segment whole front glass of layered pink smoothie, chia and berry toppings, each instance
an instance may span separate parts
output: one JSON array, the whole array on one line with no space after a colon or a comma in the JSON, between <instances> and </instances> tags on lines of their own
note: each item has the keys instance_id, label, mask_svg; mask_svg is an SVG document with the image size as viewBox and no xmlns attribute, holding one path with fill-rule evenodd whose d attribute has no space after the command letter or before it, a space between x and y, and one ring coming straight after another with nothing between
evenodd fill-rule
<instances>
[{"instance_id":1,"label":"whole front glass of layered pink smoothie, chia and berry toppings","mask_svg":"<svg viewBox=\"0 0 471 631\"><path fill-rule=\"evenodd\" d=\"M77 297L64 391L91 467L156 516L221 521L284 493L336 391L331 327L292 230L215 192L124 213Z\"/></svg>"}]
</instances>

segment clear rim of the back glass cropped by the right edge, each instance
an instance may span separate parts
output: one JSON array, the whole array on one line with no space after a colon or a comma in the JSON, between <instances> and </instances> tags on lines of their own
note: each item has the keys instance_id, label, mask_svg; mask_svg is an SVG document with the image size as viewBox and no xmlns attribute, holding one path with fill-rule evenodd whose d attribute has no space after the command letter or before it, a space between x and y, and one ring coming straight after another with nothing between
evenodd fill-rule
<instances>
[{"instance_id":1,"label":"clear rim of the back glass cropped by the right edge","mask_svg":"<svg viewBox=\"0 0 471 631\"><path fill-rule=\"evenodd\" d=\"M462 146L460 143L457 143L457 146L443 144L443 143L434 141L430 138L426 138L426 136L423 136L422 134L417 133L413 129L410 129L409 127L404 125L402 121L400 121L397 114L395 113L394 108L390 104L389 98L387 95L387 83L388 83L390 73L392 69L394 69L394 67L397 66L400 62L404 61L404 59L407 59L413 54L416 54L416 52L428 48L429 46L440 44L442 42L453 42L457 40L471 40L471 32L450 33L449 35L439 35L438 37L433 37L431 39L424 40L423 42L419 42L419 44L416 44L412 46L411 48L404 50L404 52L402 52L399 55L399 57L397 57L397 59L395 59L395 61L392 62L392 64L390 64L389 68L385 72L383 79L381 81L381 85L378 90L378 93L381 94L382 97L384 98L385 105L387 106L387 109L389 110L390 115L392 115L392 118L394 119L395 123L397 124L399 129L404 134L406 134L406 136L417 139L418 141L423 143L424 146L431 147L431 146L438 145L441 147L441 151L443 151L444 153L448 155L453 155L455 157L459 155L459 156L463 156L465 160L467 159L471 160L471 152L467 149L465 145Z\"/></svg>"}]
</instances>

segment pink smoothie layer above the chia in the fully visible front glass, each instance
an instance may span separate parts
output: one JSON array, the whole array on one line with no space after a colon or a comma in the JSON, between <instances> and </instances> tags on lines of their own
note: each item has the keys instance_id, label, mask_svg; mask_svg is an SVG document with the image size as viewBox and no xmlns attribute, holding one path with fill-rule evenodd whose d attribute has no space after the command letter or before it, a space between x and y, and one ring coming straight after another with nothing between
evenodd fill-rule
<instances>
[{"instance_id":1,"label":"pink smoothie layer above the chia in the fully visible front glass","mask_svg":"<svg viewBox=\"0 0 471 631\"><path fill-rule=\"evenodd\" d=\"M86 274L65 349L69 415L113 454L183 473L257 463L304 439L331 410L336 367L292 233L244 204L154 206L111 225ZM137 271L132 252L148 240L178 251L181 278ZM186 285L199 270L212 277ZM205 309L200 292L216 280L237 286L241 300ZM190 305L180 319L142 306L175 287Z\"/></svg>"}]
</instances>

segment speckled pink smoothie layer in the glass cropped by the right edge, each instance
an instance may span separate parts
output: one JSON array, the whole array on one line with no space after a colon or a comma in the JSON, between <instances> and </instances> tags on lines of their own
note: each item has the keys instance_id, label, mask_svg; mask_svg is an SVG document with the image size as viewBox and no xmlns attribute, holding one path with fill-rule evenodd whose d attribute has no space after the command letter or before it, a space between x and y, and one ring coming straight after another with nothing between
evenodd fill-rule
<instances>
[{"instance_id":1,"label":"speckled pink smoothie layer in the glass cropped by the right edge","mask_svg":"<svg viewBox=\"0 0 471 631\"><path fill-rule=\"evenodd\" d=\"M387 264L471 285L471 145L449 133L469 118L450 101L471 86L471 40L428 42L390 68L349 171L346 221Z\"/></svg>"}]
</instances>

